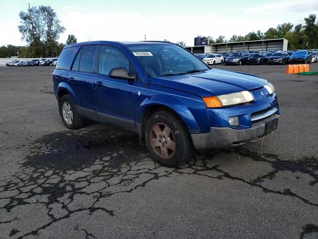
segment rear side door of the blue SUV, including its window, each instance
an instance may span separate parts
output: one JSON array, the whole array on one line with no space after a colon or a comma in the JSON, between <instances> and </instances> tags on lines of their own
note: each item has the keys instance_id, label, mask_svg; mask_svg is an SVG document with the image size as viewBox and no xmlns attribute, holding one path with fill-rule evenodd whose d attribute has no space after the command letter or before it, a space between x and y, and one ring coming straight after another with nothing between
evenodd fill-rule
<instances>
[{"instance_id":1,"label":"rear side door of the blue SUV, including its window","mask_svg":"<svg viewBox=\"0 0 318 239\"><path fill-rule=\"evenodd\" d=\"M67 77L67 83L74 91L76 97L76 109L80 115L92 119L97 118L93 94L96 49L96 45L82 46Z\"/></svg>"}]
</instances>

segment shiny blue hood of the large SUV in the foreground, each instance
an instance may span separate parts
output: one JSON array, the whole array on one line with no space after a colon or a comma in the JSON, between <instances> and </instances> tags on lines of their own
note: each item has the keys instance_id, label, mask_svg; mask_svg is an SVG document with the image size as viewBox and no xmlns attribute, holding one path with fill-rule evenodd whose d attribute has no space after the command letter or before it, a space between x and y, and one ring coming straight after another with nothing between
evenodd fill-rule
<instances>
[{"instance_id":1,"label":"shiny blue hood of the large SUV in the foreground","mask_svg":"<svg viewBox=\"0 0 318 239\"><path fill-rule=\"evenodd\" d=\"M152 77L151 84L207 97L261 88L267 80L246 73L212 69L181 76Z\"/></svg>"}]
</instances>

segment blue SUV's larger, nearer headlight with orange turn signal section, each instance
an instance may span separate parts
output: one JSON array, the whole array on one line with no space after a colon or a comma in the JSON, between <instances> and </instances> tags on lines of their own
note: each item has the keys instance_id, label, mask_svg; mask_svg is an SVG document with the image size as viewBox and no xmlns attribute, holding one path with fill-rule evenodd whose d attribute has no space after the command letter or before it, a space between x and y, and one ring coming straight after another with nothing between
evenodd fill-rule
<instances>
[{"instance_id":1,"label":"blue SUV's larger, nearer headlight with orange turn signal section","mask_svg":"<svg viewBox=\"0 0 318 239\"><path fill-rule=\"evenodd\" d=\"M254 97L249 91L241 91L228 95L203 97L202 99L207 108L220 108L251 102L254 100Z\"/></svg>"}]
</instances>

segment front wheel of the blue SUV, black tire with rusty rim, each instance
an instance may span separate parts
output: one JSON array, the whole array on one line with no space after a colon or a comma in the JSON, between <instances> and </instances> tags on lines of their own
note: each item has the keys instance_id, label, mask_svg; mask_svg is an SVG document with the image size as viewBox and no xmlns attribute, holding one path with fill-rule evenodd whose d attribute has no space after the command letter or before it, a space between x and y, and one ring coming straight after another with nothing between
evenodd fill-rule
<instances>
[{"instance_id":1,"label":"front wheel of the blue SUV, black tire with rusty rim","mask_svg":"<svg viewBox=\"0 0 318 239\"><path fill-rule=\"evenodd\" d=\"M187 162L193 150L187 128L170 111L157 112L147 120L145 141L153 159L166 167L178 167Z\"/></svg>"}]
</instances>

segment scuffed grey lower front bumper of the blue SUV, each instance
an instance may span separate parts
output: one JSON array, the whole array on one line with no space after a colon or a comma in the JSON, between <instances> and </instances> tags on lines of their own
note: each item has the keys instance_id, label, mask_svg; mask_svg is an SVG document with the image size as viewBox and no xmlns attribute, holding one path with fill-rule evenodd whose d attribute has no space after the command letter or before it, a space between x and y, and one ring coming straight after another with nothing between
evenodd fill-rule
<instances>
[{"instance_id":1,"label":"scuffed grey lower front bumper of the blue SUV","mask_svg":"<svg viewBox=\"0 0 318 239\"><path fill-rule=\"evenodd\" d=\"M191 134L193 146L195 149L231 148L257 141L276 129L278 118L277 114L271 115L268 118L253 122L252 126L246 129L211 127L208 133ZM269 128L268 125L274 125L274 127Z\"/></svg>"}]
</instances>

